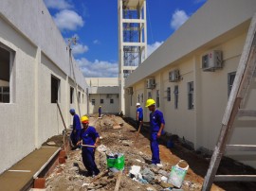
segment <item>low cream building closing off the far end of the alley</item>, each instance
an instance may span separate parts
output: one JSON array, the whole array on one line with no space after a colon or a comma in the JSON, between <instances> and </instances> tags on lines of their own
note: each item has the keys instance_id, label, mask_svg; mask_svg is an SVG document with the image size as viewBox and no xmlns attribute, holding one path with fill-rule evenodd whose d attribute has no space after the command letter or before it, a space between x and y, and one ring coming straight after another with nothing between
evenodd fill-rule
<instances>
[{"instance_id":1,"label":"low cream building closing off the far end of the alley","mask_svg":"<svg viewBox=\"0 0 256 191\"><path fill-rule=\"evenodd\" d=\"M88 113L119 113L119 79L118 78L85 78L90 85Z\"/></svg>"}]
</instances>

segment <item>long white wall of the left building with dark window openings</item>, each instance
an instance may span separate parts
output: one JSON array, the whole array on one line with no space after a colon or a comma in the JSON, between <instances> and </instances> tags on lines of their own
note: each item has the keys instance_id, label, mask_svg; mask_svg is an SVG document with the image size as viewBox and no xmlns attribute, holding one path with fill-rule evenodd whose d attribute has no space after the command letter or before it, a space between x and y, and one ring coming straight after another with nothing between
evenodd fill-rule
<instances>
[{"instance_id":1,"label":"long white wall of the left building with dark window openings","mask_svg":"<svg viewBox=\"0 0 256 191\"><path fill-rule=\"evenodd\" d=\"M51 103L52 78L59 81L58 100L67 126L70 108L79 111L70 87L76 89L69 52L44 1L0 1L0 48L10 55L9 103L0 103L0 173L64 130L56 103ZM0 56L3 56L2 54ZM74 73L87 113L87 85L76 63ZM0 65L1 67L1 65ZM1 86L7 85L1 82ZM75 91L74 91L75 97Z\"/></svg>"}]
</instances>

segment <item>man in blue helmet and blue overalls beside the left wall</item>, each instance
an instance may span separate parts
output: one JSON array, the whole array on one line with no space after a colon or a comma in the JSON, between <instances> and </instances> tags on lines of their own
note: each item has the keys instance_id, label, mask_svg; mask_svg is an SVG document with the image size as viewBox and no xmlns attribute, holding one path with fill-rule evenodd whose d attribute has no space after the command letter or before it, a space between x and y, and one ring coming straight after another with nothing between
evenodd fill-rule
<instances>
[{"instance_id":1,"label":"man in blue helmet and blue overalls beside the left wall","mask_svg":"<svg viewBox=\"0 0 256 191\"><path fill-rule=\"evenodd\" d=\"M76 114L76 111L74 109L70 109L69 113L73 115L73 130L70 134L70 145L72 149L75 149L78 148L77 143L80 140L80 132L82 128L80 123L80 117L78 114Z\"/></svg>"}]
</instances>

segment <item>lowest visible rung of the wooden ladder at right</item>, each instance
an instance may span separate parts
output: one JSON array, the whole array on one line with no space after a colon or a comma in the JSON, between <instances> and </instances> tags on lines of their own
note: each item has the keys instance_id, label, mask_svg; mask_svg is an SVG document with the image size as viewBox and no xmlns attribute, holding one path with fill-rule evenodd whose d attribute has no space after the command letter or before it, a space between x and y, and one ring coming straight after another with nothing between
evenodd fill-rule
<instances>
[{"instance_id":1,"label":"lowest visible rung of the wooden ladder at right","mask_svg":"<svg viewBox=\"0 0 256 191\"><path fill-rule=\"evenodd\" d=\"M216 175L216 182L256 182L256 175Z\"/></svg>"}]
</instances>

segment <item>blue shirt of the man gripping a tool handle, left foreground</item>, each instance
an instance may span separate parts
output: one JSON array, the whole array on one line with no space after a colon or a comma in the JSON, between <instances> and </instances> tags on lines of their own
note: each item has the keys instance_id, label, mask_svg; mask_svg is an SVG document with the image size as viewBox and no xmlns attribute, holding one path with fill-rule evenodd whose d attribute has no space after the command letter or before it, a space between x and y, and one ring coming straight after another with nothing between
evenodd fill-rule
<instances>
[{"instance_id":1,"label":"blue shirt of the man gripping a tool handle, left foreground","mask_svg":"<svg viewBox=\"0 0 256 191\"><path fill-rule=\"evenodd\" d=\"M82 138L83 145L93 146L95 144L97 137L100 137L100 135L92 126L89 126L87 130L82 129L81 131L81 138Z\"/></svg>"}]
</instances>

